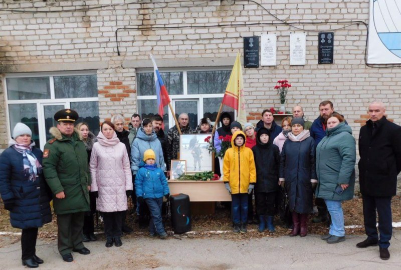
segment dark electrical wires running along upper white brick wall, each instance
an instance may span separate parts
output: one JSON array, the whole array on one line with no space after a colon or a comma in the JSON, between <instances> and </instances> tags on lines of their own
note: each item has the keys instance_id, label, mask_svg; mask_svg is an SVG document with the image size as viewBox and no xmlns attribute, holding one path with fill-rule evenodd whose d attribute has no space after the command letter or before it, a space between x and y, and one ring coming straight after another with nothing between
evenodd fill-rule
<instances>
[{"instance_id":1,"label":"dark electrical wires running along upper white brick wall","mask_svg":"<svg viewBox=\"0 0 401 270\"><path fill-rule=\"evenodd\" d=\"M367 45L368 45L368 24L363 21L363 20L344 20L344 21L330 21L330 20L325 20L325 21L286 21L278 17L278 15L273 14L268 8L263 6L263 4L255 1L255 0L230 0L232 3L240 3L240 2L247 2L247 3L254 3L258 5L260 8L262 8L265 12L267 12L270 16L274 17L276 20L279 22L254 22L254 23L233 23L233 22L228 22L228 23L208 23L207 25L196 25L196 24L190 24L190 25L175 25L175 26L165 26L165 25L149 25L149 26L124 26L124 27L118 27L118 18L117 18L117 10L115 6L121 6L121 5L127 5L127 4L153 4L154 8L164 8L164 7L194 7L194 6L202 6L202 5L207 5L208 1L199 1L198 3L192 3L192 4L172 4L169 2L162 2L160 0L124 0L124 3L117 3L117 4L103 4L103 5L94 5L94 6L86 6L86 7L81 7L81 8L74 8L74 9L63 9L63 10L32 10L29 8L0 8L0 11L9 11L9 12L24 12L24 13L54 13L54 12L77 12L77 11L88 11L88 10L93 10L93 9L103 9L110 7L114 10L115 12L115 22L116 22L116 30L115 30L115 38L116 38L116 47L117 47L117 54L120 55L120 49L119 49L119 41L118 41L118 31L119 30L158 30L158 29L185 29L185 28L217 28L217 27L236 27L236 26L276 26L276 25L287 25L291 28L295 28L298 30L302 30L305 32L320 32L320 30L306 30L302 27L299 27L299 25L333 25L333 24L346 24L342 27L338 28L330 28L327 30L330 31L337 31L340 29L344 29L353 25L358 25L363 24L366 27L366 42L365 42L365 49L364 49L364 60L365 60L365 65L369 67L374 67L374 68L393 68L393 67L401 67L401 65L398 64L368 64L367 63ZM229 2L229 3L230 3ZM86 2L84 1L84 4ZM157 6L157 7L156 7Z\"/></svg>"}]
</instances>

